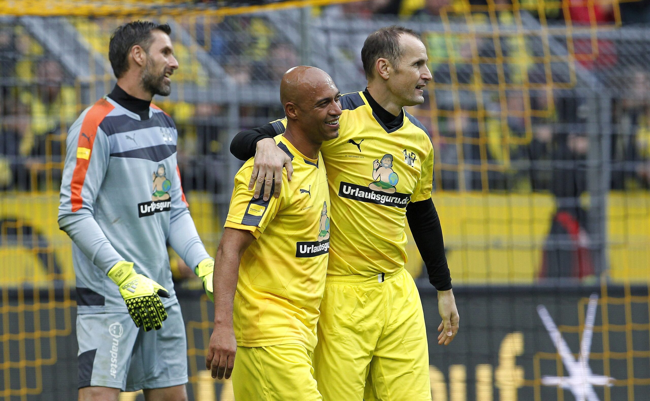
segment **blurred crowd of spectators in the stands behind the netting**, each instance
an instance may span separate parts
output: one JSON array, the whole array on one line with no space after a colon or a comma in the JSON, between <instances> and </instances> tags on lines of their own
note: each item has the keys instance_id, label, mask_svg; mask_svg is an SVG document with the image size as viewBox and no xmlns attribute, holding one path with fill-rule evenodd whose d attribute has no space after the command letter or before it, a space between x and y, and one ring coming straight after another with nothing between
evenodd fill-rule
<instances>
[{"instance_id":1,"label":"blurred crowd of spectators in the stands behind the netting","mask_svg":"<svg viewBox=\"0 0 650 401\"><path fill-rule=\"evenodd\" d=\"M378 14L439 18L441 10L449 15L458 12L456 1L375 0L324 6L313 12L324 18L337 14L348 18ZM647 3L650 0L623 3L621 7L633 5L637 12L632 14L640 17L645 15L642 11ZM474 0L472 4L480 6ZM499 5L508 2L495 0L491 4L499 10ZM591 18L610 21L606 16L612 10L599 1L595 6L600 11L588 13ZM575 21L584 17L577 8L569 8ZM494 14L500 24L514 23L508 10L504 7ZM551 8L545 10L553 15ZM561 11L554 18L563 19ZM621 18L626 14L623 11L621 8ZM494 17L487 12L474 14L475 18ZM284 71L300 64L296 42L263 17L237 16L207 26L194 23L186 27L198 45L241 86L275 86ZM554 161L586 158L587 115L593 108L577 92L557 90L575 84L571 60L565 58L550 65L543 62L545 46L534 36L468 38L425 32L423 39L436 91L413 114L433 134L440 165L436 180L439 189L560 193L553 187L553 176L564 173ZM593 44L590 39L586 41ZM581 42L575 40L573 45L578 53ZM598 40L597 49L588 49L576 60L595 75L619 71L624 78L621 87L629 87L612 106L611 120L616 127L610 155L612 188L647 189L650 77L643 58L629 62L617 45ZM621 66L621 60L625 65ZM48 189L47 182L56 186L66 128L85 107L78 92L75 77L19 23L0 23L0 189ZM209 170L219 169L227 159L227 139L220 120L224 110L216 104L164 106L179 126L180 160L186 164L187 185L218 193L223 183ZM281 112L279 107L255 104L244 104L239 111L241 128L260 125L267 116L272 119Z\"/></svg>"}]
</instances>

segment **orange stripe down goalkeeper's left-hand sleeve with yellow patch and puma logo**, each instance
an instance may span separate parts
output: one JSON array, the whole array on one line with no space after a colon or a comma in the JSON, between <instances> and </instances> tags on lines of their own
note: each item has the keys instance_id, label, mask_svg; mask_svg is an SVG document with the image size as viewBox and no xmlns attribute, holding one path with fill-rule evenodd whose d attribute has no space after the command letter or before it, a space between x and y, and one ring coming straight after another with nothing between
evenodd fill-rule
<instances>
[{"instance_id":1,"label":"orange stripe down goalkeeper's left-hand sleeve with yellow patch and puma logo","mask_svg":"<svg viewBox=\"0 0 650 401\"><path fill-rule=\"evenodd\" d=\"M99 99L95 103L81 123L81 131L79 132L79 140L77 140L77 164L72 173L72 182L70 182L70 201L72 202L72 212L77 212L83 206L83 199L81 198L81 190L83 189L83 182L86 180L86 172L88 171L88 164L92 156L92 145L95 142L97 135L97 128L99 123L113 110L114 106L106 99ZM86 151L86 149L88 149ZM80 151L81 150L81 151Z\"/></svg>"}]
</instances>

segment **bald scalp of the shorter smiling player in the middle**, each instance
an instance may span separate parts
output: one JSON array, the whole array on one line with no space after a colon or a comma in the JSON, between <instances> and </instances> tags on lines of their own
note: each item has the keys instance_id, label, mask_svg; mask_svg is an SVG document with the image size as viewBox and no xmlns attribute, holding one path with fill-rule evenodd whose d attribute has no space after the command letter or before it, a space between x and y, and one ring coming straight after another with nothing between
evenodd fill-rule
<instances>
[{"instance_id":1,"label":"bald scalp of the shorter smiling player in the middle","mask_svg":"<svg viewBox=\"0 0 650 401\"><path fill-rule=\"evenodd\" d=\"M326 88L336 88L330 75L317 67L298 66L289 69L280 82L280 101L303 106L305 101L318 98Z\"/></svg>"}]
</instances>

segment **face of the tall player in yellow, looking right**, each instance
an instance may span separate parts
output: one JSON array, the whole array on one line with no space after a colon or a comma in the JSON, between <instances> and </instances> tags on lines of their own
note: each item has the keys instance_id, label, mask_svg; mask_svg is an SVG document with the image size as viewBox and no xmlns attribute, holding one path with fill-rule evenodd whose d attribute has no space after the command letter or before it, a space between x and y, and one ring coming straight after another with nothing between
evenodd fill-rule
<instances>
[{"instance_id":1,"label":"face of the tall player in yellow, looking right","mask_svg":"<svg viewBox=\"0 0 650 401\"><path fill-rule=\"evenodd\" d=\"M392 71L386 80L388 90L395 97L395 103L415 106L424 103L424 86L429 82L431 72L426 66L426 48L415 36L400 35L402 56L392 64Z\"/></svg>"}]
</instances>

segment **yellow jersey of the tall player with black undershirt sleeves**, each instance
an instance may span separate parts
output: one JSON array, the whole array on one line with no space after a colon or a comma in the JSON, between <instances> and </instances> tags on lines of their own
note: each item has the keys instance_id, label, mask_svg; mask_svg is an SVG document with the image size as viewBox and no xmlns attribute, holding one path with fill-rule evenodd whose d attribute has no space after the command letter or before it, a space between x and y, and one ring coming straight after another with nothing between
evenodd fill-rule
<instances>
[{"instance_id":1,"label":"yellow jersey of the tall player with black undershirt sleeves","mask_svg":"<svg viewBox=\"0 0 650 401\"><path fill-rule=\"evenodd\" d=\"M434 148L407 112L389 130L363 92L343 95L341 105L339 138L320 149L331 198L328 274L395 273L407 260L406 205L431 197ZM284 132L286 119L272 125Z\"/></svg>"}]
</instances>

